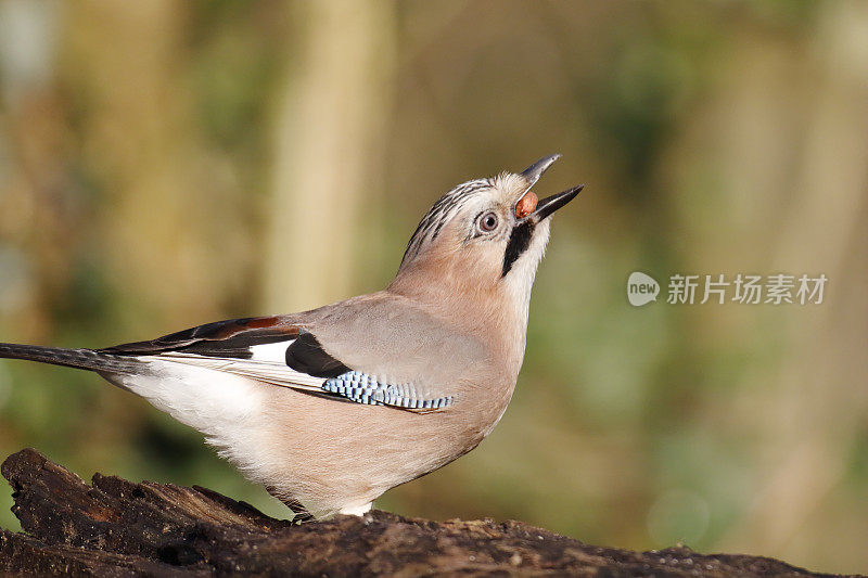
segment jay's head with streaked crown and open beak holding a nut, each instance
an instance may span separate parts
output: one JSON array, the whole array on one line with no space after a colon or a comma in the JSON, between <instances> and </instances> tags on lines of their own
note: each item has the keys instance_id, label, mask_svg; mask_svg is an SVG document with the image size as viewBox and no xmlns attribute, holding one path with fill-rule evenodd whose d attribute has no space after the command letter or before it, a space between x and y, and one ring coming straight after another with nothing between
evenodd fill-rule
<instances>
[{"instance_id":1,"label":"jay's head with streaked crown and open beak holding a nut","mask_svg":"<svg viewBox=\"0 0 868 578\"><path fill-rule=\"evenodd\" d=\"M549 217L583 185L537 201L531 191L560 155L519 174L459 184L425 214L404 254L390 290L452 300L478 296L523 305L525 319L539 260L549 239Z\"/></svg>"}]
</instances>

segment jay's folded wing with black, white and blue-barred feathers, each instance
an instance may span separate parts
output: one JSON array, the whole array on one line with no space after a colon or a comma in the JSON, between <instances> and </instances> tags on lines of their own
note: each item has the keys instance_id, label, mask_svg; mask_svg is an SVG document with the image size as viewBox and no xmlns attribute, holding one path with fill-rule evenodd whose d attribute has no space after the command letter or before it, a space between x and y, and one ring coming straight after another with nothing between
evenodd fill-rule
<instances>
[{"instance_id":1,"label":"jay's folded wing with black, white and blue-barred feathers","mask_svg":"<svg viewBox=\"0 0 868 578\"><path fill-rule=\"evenodd\" d=\"M417 412L452 402L450 396L426 397L410 383L388 383L354 371L329 355L314 333L281 317L218 321L99 352L175 361L324 397Z\"/></svg>"}]
</instances>

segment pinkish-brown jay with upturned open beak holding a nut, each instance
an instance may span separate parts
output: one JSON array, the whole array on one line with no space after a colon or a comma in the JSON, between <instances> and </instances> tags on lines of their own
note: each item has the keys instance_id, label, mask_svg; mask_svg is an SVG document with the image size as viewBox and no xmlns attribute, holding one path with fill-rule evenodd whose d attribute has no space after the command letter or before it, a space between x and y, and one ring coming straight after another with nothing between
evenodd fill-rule
<instances>
[{"instance_id":1,"label":"pinkish-brown jay with upturned open beak holding a nut","mask_svg":"<svg viewBox=\"0 0 868 578\"><path fill-rule=\"evenodd\" d=\"M363 515L503 415L550 217L584 187L538 200L531 189L560 156L443 195L385 290L103 349L0 344L0 358L89 370L143 397L296 521Z\"/></svg>"}]
</instances>

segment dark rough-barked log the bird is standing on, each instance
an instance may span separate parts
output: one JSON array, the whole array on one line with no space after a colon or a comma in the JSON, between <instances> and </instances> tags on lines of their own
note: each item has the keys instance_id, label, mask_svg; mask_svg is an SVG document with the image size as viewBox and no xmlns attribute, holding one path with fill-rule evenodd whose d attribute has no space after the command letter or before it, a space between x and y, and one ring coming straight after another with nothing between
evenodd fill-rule
<instances>
[{"instance_id":1,"label":"dark rough-barked log the bird is standing on","mask_svg":"<svg viewBox=\"0 0 868 578\"><path fill-rule=\"evenodd\" d=\"M26 534L0 530L0 573L76 576L820 576L776 560L631 552L520 522L430 522L385 512L293 525L204 488L95 474L39 452L2 474Z\"/></svg>"}]
</instances>

